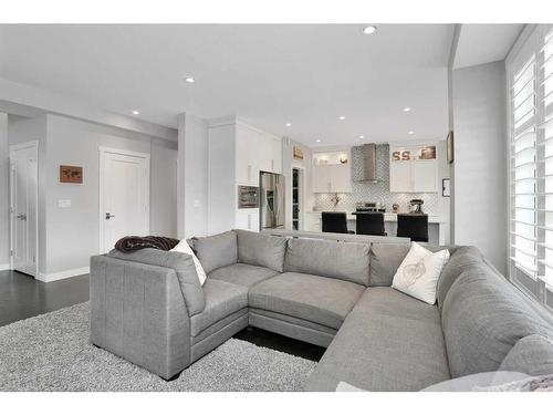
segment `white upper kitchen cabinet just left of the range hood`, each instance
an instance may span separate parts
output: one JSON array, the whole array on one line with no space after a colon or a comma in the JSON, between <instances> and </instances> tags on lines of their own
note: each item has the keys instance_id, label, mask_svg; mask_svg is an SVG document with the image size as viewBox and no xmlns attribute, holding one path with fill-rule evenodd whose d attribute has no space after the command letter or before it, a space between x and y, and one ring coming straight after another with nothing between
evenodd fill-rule
<instances>
[{"instance_id":1,"label":"white upper kitchen cabinet just left of the range hood","mask_svg":"<svg viewBox=\"0 0 553 415\"><path fill-rule=\"evenodd\" d=\"M352 193L348 151L314 154L313 193Z\"/></svg>"}]
</instances>

